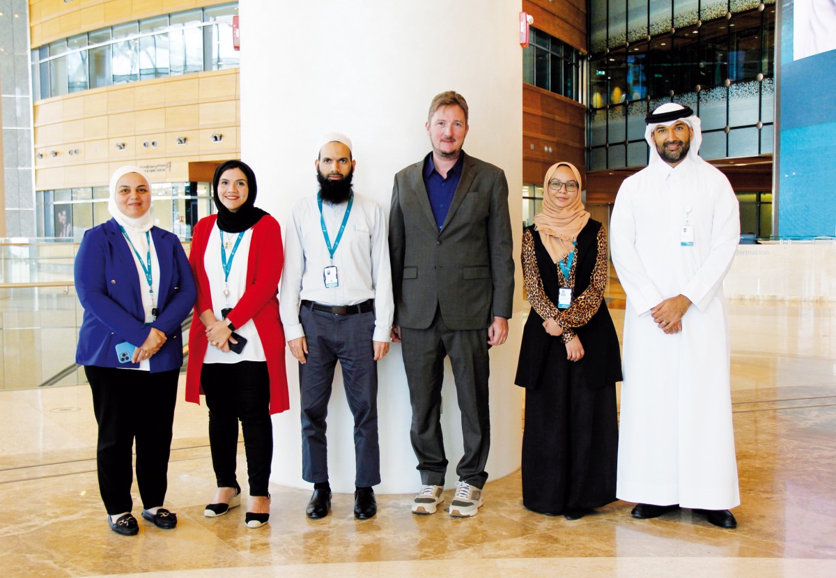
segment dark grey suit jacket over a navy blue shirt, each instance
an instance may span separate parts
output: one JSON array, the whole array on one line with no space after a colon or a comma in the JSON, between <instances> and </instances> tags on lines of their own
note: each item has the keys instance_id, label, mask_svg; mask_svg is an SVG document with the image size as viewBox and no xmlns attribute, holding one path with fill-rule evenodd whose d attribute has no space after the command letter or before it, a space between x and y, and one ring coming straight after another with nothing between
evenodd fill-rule
<instances>
[{"instance_id":1,"label":"dark grey suit jacket over a navy blue shirt","mask_svg":"<svg viewBox=\"0 0 836 578\"><path fill-rule=\"evenodd\" d=\"M462 151L461 154L465 154ZM395 325L426 329L441 308L452 330L510 318L514 293L508 182L497 166L465 155L461 179L439 232L423 161L395 175L389 248Z\"/></svg>"}]
</instances>

